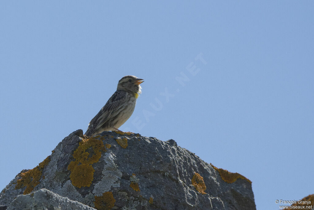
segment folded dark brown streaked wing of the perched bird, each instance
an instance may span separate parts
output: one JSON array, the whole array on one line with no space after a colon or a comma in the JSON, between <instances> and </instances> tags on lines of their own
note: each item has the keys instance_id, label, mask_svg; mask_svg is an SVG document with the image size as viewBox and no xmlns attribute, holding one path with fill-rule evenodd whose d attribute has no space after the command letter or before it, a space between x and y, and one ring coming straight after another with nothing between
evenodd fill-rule
<instances>
[{"instance_id":1,"label":"folded dark brown streaked wing of the perched bird","mask_svg":"<svg viewBox=\"0 0 314 210\"><path fill-rule=\"evenodd\" d=\"M86 135L94 133L97 129L107 122L110 118L112 111L116 110L122 102L126 100L125 91L116 91L107 103L101 108L98 114L89 122Z\"/></svg>"}]
</instances>

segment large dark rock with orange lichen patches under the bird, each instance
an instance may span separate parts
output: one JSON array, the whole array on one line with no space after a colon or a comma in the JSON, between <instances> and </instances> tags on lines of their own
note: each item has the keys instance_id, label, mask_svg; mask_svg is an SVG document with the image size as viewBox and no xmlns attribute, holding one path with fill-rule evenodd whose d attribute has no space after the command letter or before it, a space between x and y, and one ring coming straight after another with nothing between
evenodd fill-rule
<instances>
[{"instance_id":1,"label":"large dark rock with orange lichen patches under the bird","mask_svg":"<svg viewBox=\"0 0 314 210\"><path fill-rule=\"evenodd\" d=\"M242 175L203 162L172 139L134 133L71 133L2 190L0 205L43 188L97 209L256 209Z\"/></svg>"}]
</instances>

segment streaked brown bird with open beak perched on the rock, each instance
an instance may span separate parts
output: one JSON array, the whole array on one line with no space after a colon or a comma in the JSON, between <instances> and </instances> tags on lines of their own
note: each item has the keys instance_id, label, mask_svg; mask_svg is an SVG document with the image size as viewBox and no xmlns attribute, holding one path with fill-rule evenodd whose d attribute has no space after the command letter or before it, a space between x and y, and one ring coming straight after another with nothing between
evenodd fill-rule
<instances>
[{"instance_id":1,"label":"streaked brown bird with open beak perched on the rock","mask_svg":"<svg viewBox=\"0 0 314 210\"><path fill-rule=\"evenodd\" d=\"M122 77L116 92L108 99L98 114L89 122L86 136L94 136L103 131L120 131L118 128L133 114L136 99L142 93L143 79L132 75Z\"/></svg>"}]
</instances>

